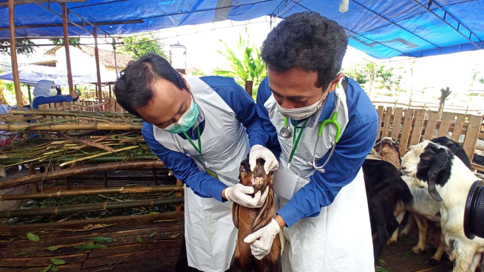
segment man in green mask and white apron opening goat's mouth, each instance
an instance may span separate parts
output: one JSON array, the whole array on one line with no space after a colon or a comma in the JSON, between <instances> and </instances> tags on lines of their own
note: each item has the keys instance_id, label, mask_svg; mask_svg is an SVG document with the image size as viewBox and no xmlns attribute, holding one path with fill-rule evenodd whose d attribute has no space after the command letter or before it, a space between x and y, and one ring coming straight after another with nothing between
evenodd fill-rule
<instances>
[{"instance_id":1,"label":"man in green mask and white apron opening goat's mouth","mask_svg":"<svg viewBox=\"0 0 484 272\"><path fill-rule=\"evenodd\" d=\"M146 143L185 184L186 256L176 270L226 271L237 238L227 200L260 207L268 193L249 195L254 188L238 183L240 163L250 150L252 168L257 158L265 159L266 172L278 167L264 147L268 136L254 100L232 78L181 76L154 54L130 63L114 94L121 107L146 121Z\"/></svg>"}]
</instances>

